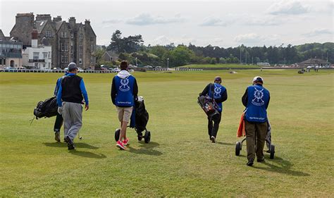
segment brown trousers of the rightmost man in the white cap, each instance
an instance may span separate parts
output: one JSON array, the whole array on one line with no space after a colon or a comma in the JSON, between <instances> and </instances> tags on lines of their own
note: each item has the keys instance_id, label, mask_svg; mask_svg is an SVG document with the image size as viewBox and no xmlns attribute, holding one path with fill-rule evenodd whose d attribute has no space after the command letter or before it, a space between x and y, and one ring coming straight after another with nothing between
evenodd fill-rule
<instances>
[{"instance_id":1,"label":"brown trousers of the rightmost man in the white cap","mask_svg":"<svg viewBox=\"0 0 334 198\"><path fill-rule=\"evenodd\" d=\"M266 132L268 129L265 123L249 123L245 120L247 159L255 159L255 153L258 159L264 156L264 143L266 142ZM256 148L255 148L256 144Z\"/></svg>"}]
</instances>

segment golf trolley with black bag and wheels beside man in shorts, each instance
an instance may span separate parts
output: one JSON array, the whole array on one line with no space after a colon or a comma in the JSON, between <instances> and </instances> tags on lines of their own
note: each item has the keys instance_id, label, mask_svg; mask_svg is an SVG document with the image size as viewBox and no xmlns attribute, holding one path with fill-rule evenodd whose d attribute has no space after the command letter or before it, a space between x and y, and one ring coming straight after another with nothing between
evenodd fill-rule
<instances>
[{"instance_id":1,"label":"golf trolley with black bag and wheels beside man in shorts","mask_svg":"<svg viewBox=\"0 0 334 198\"><path fill-rule=\"evenodd\" d=\"M149 113L145 109L144 98L138 97L137 101L135 101L135 106L131 114L130 125L128 127L135 128L137 132L137 140L142 141L144 138L145 143L149 143L151 140L151 132L147 130L146 125L149 121ZM144 135L142 132L145 131ZM117 142L120 137L120 129L116 129L115 131L115 141Z\"/></svg>"}]
</instances>

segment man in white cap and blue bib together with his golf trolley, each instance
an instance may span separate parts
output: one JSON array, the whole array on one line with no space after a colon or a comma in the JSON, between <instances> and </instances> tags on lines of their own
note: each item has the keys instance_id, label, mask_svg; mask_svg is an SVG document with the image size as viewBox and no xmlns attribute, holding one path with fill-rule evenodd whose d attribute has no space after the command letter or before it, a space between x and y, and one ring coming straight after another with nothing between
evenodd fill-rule
<instances>
[{"instance_id":1,"label":"man in white cap and blue bib together with his golf trolley","mask_svg":"<svg viewBox=\"0 0 334 198\"><path fill-rule=\"evenodd\" d=\"M246 107L242 113L237 137L246 135L246 138L235 145L235 155L240 155L242 142L247 143L247 166L253 166L255 156L257 162L264 162L264 144L273 159L275 146L271 144L271 125L268 121L267 111L270 93L263 87L264 80L260 76L253 78L253 85L247 87L242 96L242 104Z\"/></svg>"}]
</instances>

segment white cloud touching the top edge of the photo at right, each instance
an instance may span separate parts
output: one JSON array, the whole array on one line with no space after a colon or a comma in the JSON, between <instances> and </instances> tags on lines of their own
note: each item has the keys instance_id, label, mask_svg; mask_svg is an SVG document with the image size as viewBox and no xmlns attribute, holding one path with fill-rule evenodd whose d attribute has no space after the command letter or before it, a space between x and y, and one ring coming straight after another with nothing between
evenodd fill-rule
<instances>
[{"instance_id":1,"label":"white cloud touching the top edge of the photo at right","mask_svg":"<svg viewBox=\"0 0 334 198\"><path fill-rule=\"evenodd\" d=\"M311 11L310 6L304 4L302 1L283 0L271 5L266 13L272 15L299 15L309 13L309 11Z\"/></svg>"}]
</instances>

